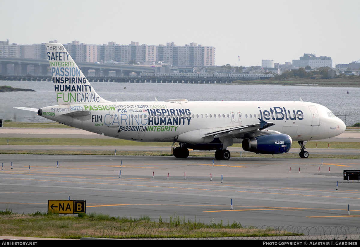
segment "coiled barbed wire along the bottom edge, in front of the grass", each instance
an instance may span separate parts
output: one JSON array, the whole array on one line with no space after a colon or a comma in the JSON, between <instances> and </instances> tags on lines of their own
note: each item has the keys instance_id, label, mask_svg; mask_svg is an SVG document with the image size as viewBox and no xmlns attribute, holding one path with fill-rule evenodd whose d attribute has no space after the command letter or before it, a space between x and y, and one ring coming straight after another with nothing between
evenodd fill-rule
<instances>
[{"instance_id":1,"label":"coiled barbed wire along the bottom edge, in front of the grass","mask_svg":"<svg viewBox=\"0 0 360 247\"><path fill-rule=\"evenodd\" d=\"M360 240L356 226L101 227L83 237L126 239Z\"/></svg>"}]
</instances>

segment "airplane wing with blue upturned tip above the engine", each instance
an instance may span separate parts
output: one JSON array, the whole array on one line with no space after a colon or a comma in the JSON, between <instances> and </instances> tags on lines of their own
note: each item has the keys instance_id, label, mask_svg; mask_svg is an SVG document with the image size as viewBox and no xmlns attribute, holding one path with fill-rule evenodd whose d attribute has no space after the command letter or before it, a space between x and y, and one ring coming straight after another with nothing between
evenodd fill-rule
<instances>
[{"instance_id":1,"label":"airplane wing with blue upturned tip above the engine","mask_svg":"<svg viewBox=\"0 0 360 247\"><path fill-rule=\"evenodd\" d=\"M220 137L225 137L225 136L229 136L229 135L235 135L235 136L241 137L246 133L249 133L252 131L263 130L263 129L269 128L270 126L275 125L275 123L268 123L260 118L258 118L258 119L260 120L260 122L253 124L253 125L231 127L231 128L224 129L224 130L207 133L205 136L214 136L214 138L220 138Z\"/></svg>"}]
</instances>

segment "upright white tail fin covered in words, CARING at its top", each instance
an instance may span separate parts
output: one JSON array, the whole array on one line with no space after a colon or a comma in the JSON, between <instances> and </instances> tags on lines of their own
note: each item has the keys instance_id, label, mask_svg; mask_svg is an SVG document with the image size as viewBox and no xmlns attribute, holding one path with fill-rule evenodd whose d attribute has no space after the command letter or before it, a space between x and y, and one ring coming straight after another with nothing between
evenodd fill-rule
<instances>
[{"instance_id":1,"label":"upright white tail fin covered in words, CARING at its top","mask_svg":"<svg viewBox=\"0 0 360 247\"><path fill-rule=\"evenodd\" d=\"M47 43L46 55L58 104L109 102L96 93L62 44Z\"/></svg>"}]
</instances>

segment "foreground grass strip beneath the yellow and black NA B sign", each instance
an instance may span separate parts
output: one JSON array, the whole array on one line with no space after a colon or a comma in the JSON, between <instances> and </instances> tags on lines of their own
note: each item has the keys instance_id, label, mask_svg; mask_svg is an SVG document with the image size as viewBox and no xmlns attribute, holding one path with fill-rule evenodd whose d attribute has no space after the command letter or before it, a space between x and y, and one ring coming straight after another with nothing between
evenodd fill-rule
<instances>
[{"instance_id":1,"label":"foreground grass strip beneath the yellow and black NA B sign","mask_svg":"<svg viewBox=\"0 0 360 247\"><path fill-rule=\"evenodd\" d=\"M37 211L33 214L17 214L6 209L0 211L1 234L19 237L47 237L80 239L96 238L207 238L207 237L270 237L303 235L286 230L254 226L244 227L234 221L224 225L204 224L196 220L172 215L169 219L153 220L149 216L140 218L114 217L105 214L79 214L60 216Z\"/></svg>"}]
</instances>

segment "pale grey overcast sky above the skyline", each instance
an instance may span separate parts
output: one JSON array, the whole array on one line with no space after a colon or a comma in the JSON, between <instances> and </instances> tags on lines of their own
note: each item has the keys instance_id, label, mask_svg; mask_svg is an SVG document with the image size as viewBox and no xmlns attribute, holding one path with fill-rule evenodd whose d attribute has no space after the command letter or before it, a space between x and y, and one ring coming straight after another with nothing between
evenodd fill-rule
<instances>
[{"instance_id":1,"label":"pale grey overcast sky above the skyline","mask_svg":"<svg viewBox=\"0 0 360 247\"><path fill-rule=\"evenodd\" d=\"M0 40L215 46L215 64L283 64L303 53L360 59L359 0L1 1ZM240 61L238 61L240 56Z\"/></svg>"}]
</instances>

